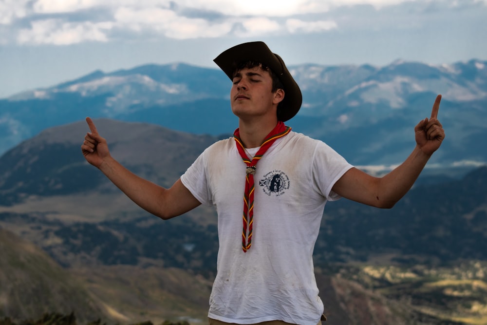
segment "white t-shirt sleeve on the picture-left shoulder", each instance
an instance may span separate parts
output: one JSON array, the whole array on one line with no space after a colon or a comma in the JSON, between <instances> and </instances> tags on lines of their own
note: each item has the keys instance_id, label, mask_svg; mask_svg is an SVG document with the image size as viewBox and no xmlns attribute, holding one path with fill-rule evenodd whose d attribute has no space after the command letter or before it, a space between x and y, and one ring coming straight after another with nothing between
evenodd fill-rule
<instances>
[{"instance_id":1,"label":"white t-shirt sleeve on the picture-left shoulder","mask_svg":"<svg viewBox=\"0 0 487 325\"><path fill-rule=\"evenodd\" d=\"M189 166L186 172L181 175L181 182L201 204L210 206L213 202L208 188L206 173L207 150L208 149L201 153L191 166Z\"/></svg>"}]
</instances>

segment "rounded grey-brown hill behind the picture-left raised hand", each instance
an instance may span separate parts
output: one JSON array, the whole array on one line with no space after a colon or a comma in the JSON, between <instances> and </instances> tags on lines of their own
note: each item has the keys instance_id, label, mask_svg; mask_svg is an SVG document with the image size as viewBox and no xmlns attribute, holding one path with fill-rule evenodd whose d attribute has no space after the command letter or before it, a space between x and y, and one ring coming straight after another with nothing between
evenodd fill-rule
<instances>
[{"instance_id":1,"label":"rounded grey-brown hill behind the picture-left raised hand","mask_svg":"<svg viewBox=\"0 0 487 325\"><path fill-rule=\"evenodd\" d=\"M110 141L114 157L133 172L164 186L172 185L217 140L148 123L109 119L95 119L95 123ZM81 155L81 143L89 131L84 121L47 129L3 154L0 204L29 195L65 195L105 188L108 181Z\"/></svg>"}]
</instances>

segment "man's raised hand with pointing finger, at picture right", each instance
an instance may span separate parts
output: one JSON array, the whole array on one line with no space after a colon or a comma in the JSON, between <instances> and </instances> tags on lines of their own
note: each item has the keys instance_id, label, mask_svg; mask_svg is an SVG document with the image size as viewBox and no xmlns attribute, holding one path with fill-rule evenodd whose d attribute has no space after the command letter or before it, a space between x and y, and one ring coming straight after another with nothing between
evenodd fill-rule
<instances>
[{"instance_id":1,"label":"man's raised hand with pointing finger, at picture right","mask_svg":"<svg viewBox=\"0 0 487 325\"><path fill-rule=\"evenodd\" d=\"M431 117L425 118L414 128L416 144L427 155L433 154L445 138L445 130L438 121L438 110L440 109L441 95L436 96Z\"/></svg>"}]
</instances>

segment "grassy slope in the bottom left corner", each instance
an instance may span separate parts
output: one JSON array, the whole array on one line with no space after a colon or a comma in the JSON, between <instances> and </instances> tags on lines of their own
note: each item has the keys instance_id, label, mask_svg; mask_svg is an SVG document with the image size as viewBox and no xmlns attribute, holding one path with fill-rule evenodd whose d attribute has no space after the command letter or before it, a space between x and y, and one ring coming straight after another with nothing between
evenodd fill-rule
<instances>
[{"instance_id":1,"label":"grassy slope in the bottom left corner","mask_svg":"<svg viewBox=\"0 0 487 325\"><path fill-rule=\"evenodd\" d=\"M103 315L82 284L32 243L0 228L0 251L0 316L23 320L75 311L87 322Z\"/></svg>"}]
</instances>

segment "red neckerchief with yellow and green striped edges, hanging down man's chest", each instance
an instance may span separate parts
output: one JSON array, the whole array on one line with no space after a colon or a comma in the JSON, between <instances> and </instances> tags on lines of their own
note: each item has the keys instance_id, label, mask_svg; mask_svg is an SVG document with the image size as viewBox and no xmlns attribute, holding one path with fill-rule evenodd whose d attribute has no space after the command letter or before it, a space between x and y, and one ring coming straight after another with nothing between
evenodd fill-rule
<instances>
[{"instance_id":1,"label":"red neckerchief with yellow and green striped edges, hanging down man's chest","mask_svg":"<svg viewBox=\"0 0 487 325\"><path fill-rule=\"evenodd\" d=\"M259 159L262 158L262 155L269 149L274 141L278 138L288 134L291 131L291 128L285 126L283 122L279 121L274 130L272 130L267 136L265 137L264 141L261 144L261 147L252 158L249 159L247 154L245 153L244 145L242 140L240 139L240 132L239 129L235 130L233 133L233 137L235 138L235 144L237 146L237 150L244 160L245 165L247 166L245 170L245 191L244 191L244 215L243 215L243 223L244 229L242 230L242 249L244 252L247 252L252 245L252 224L254 219L254 174L257 162ZM248 233L247 233L248 229Z\"/></svg>"}]
</instances>

